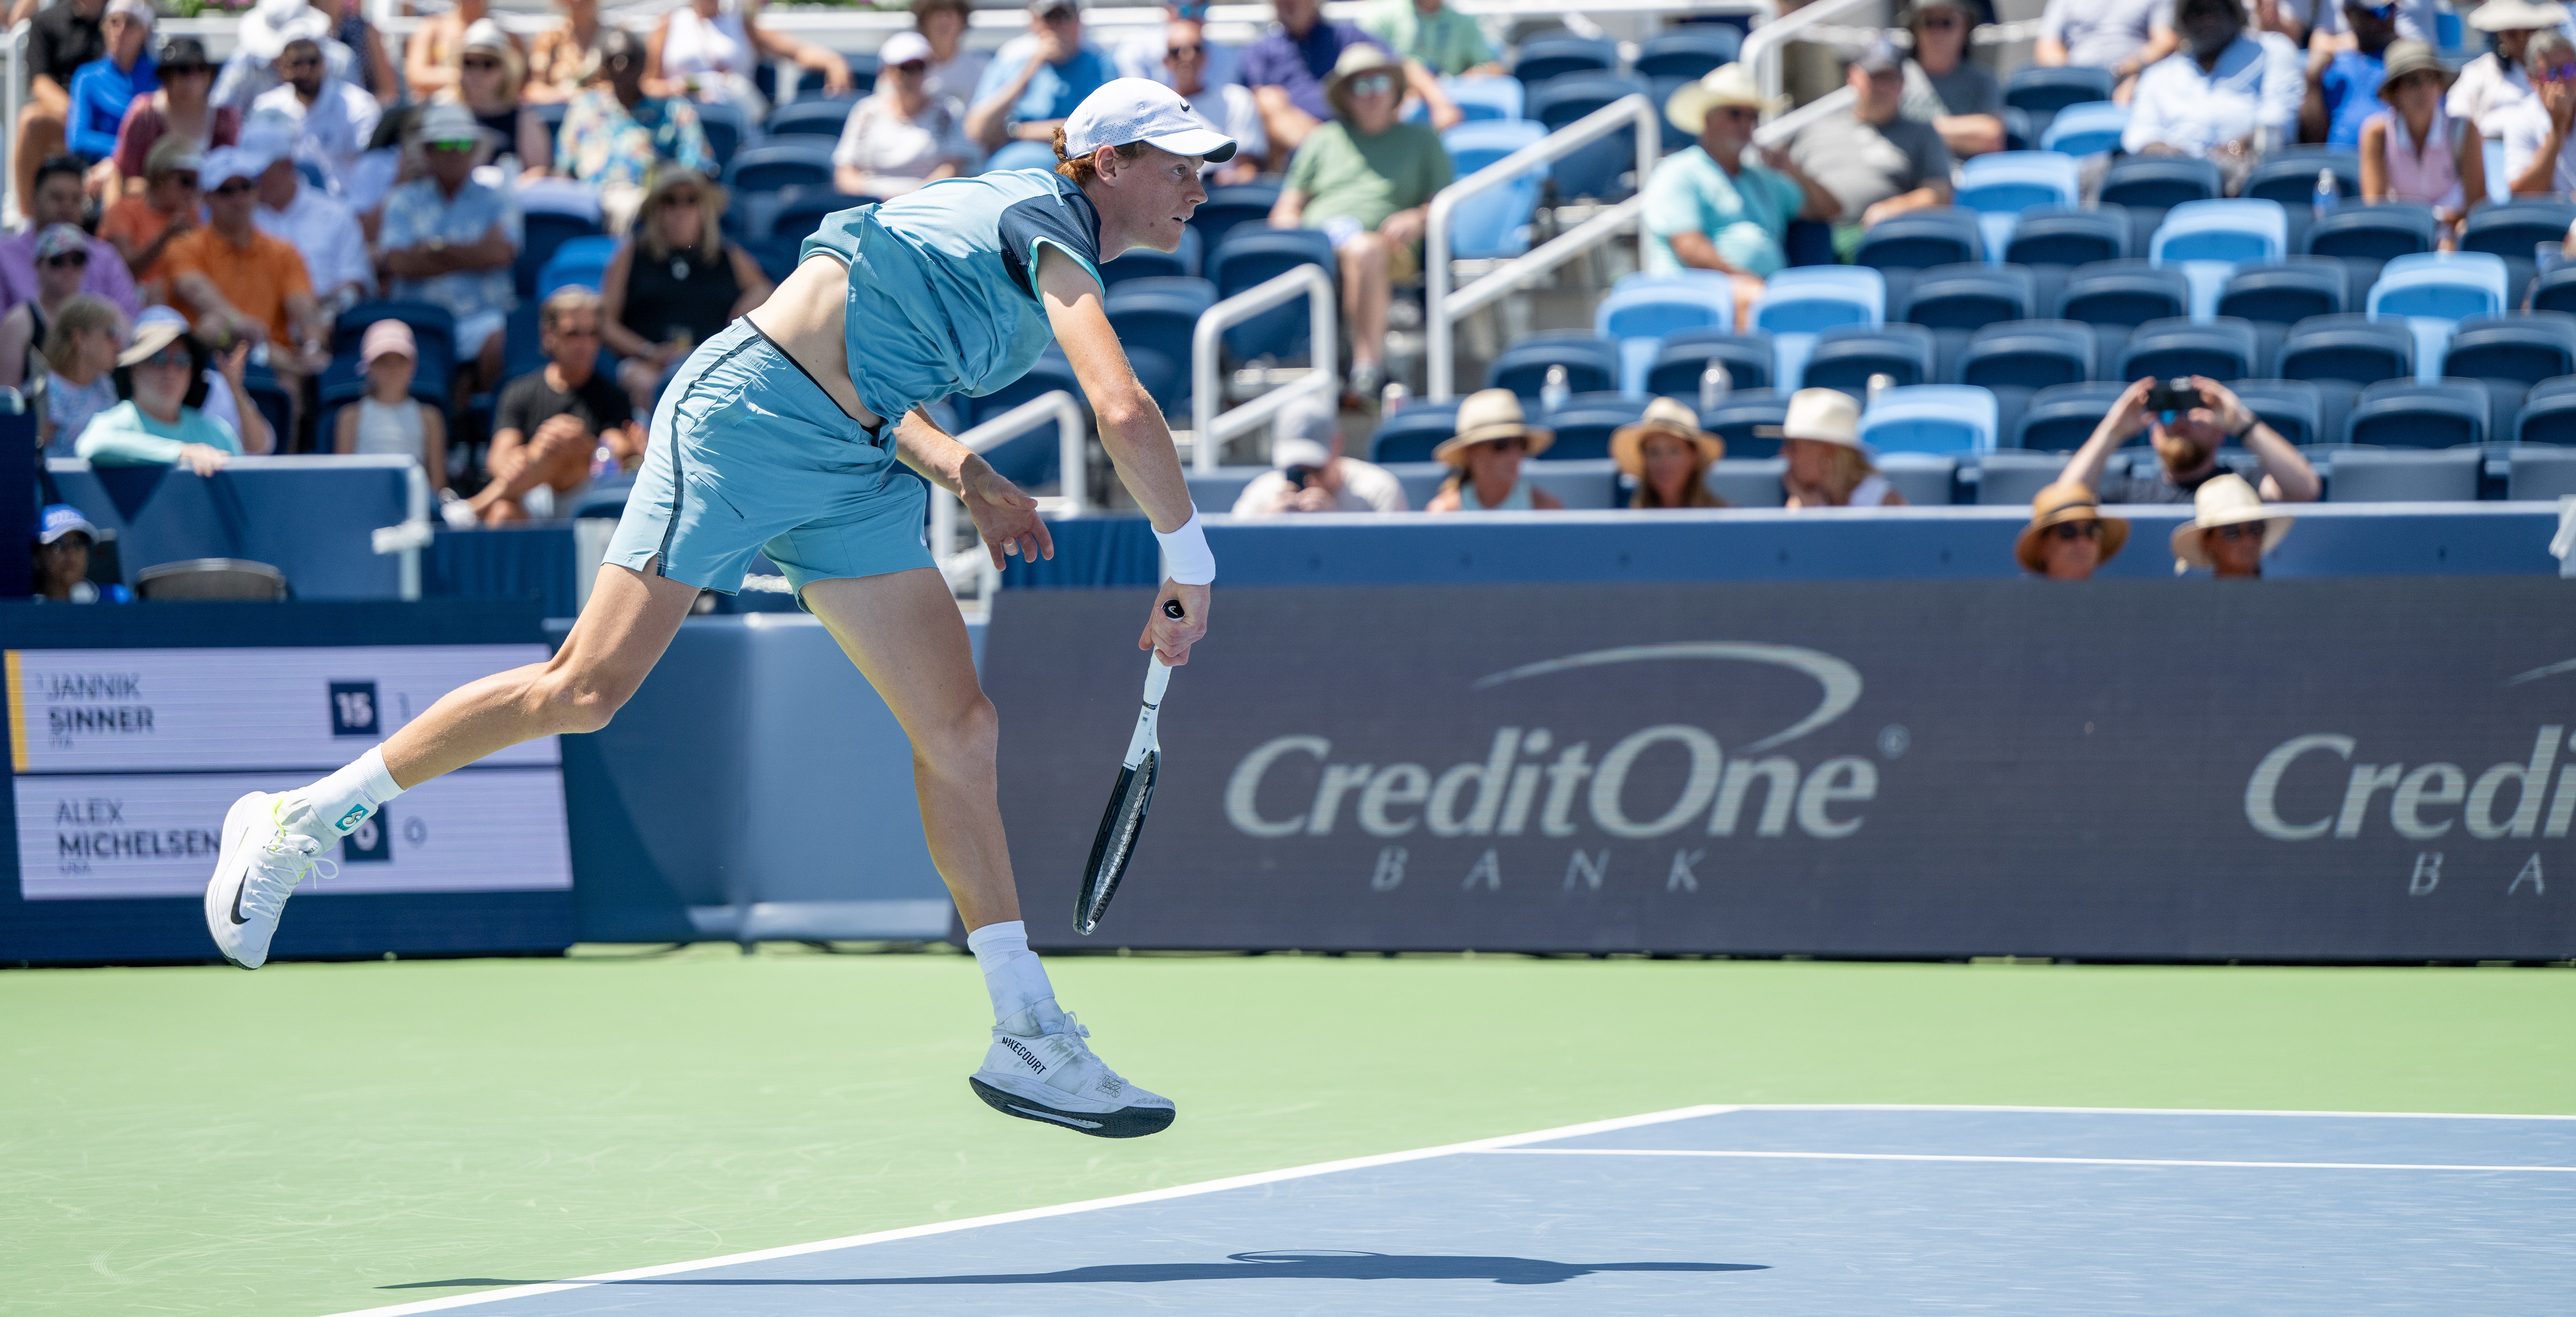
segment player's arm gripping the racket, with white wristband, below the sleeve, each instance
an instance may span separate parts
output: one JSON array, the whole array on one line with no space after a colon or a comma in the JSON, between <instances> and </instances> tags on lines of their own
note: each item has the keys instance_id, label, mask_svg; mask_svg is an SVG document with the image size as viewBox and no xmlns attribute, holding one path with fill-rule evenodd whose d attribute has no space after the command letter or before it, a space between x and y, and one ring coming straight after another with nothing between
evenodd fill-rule
<instances>
[{"instance_id":1,"label":"player's arm gripping the racket, with white wristband, below the sleeve","mask_svg":"<svg viewBox=\"0 0 2576 1317\"><path fill-rule=\"evenodd\" d=\"M1128 487L1144 515L1154 521L1159 536L1188 534L1185 528L1198 510L1190 508L1190 482L1180 474L1172 428L1162 423L1162 405L1144 392L1144 384L1136 384L1136 369L1128 366L1126 348L1118 345L1118 332L1110 330L1110 317L1100 307L1100 284L1074 258L1054 247L1041 247L1038 291L1046 302L1046 320L1056 330L1056 345L1072 361L1074 376L1082 379L1082 394L1092 402L1092 415L1100 420L1100 446L1108 448L1110 464L1118 466L1118 482ZM1203 536L1193 539L1206 544ZM1164 546L1167 552L1172 549L1170 539ZM1198 644L1198 637L1208 634L1208 580L1216 580L1213 559L1203 572L1193 572L1180 567L1175 557L1175 577L1162 582L1162 593L1154 598L1151 619L1144 634L1136 637L1136 647L1157 649L1164 662L1177 668L1190 662L1190 644ZM1180 601L1182 616L1175 619L1162 608L1167 598Z\"/></svg>"}]
</instances>

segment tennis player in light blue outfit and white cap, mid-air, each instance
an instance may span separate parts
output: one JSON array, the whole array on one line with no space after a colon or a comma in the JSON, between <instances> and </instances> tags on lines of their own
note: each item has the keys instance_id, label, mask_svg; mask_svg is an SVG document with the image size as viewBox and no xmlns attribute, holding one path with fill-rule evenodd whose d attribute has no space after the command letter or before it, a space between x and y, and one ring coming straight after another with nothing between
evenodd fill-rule
<instances>
[{"instance_id":1,"label":"tennis player in light blue outfit and white cap, mid-air","mask_svg":"<svg viewBox=\"0 0 2576 1317\"><path fill-rule=\"evenodd\" d=\"M994 794L994 709L922 546L927 490L896 464L966 503L994 564L1012 552L1054 557L1036 500L940 433L922 405L989 394L1028 374L1048 338L1061 343L1170 564L1136 647L1188 662L1208 629L1216 559L1162 407L1103 314L1100 260L1177 250L1208 198L1200 162L1231 155L1234 139L1177 93L1121 77L1056 131L1054 173L951 178L827 216L796 273L698 345L662 394L590 606L551 660L451 691L301 791L232 804L206 884L206 928L224 956L260 966L296 881L330 866L317 856L404 789L526 740L605 727L698 590L732 593L765 552L912 737L930 858L992 990L976 1095L1108 1139L1170 1126L1172 1103L1092 1054L1090 1031L1056 1005L1028 951ZM1180 601L1177 619L1164 601Z\"/></svg>"}]
</instances>

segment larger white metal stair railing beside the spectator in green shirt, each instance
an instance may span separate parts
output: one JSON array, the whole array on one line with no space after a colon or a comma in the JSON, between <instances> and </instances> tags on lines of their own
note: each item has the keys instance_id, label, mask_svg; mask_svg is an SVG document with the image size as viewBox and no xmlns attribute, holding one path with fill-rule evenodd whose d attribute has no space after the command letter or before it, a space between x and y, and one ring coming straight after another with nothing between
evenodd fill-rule
<instances>
[{"instance_id":1,"label":"larger white metal stair railing beside the spectator in green shirt","mask_svg":"<svg viewBox=\"0 0 2576 1317\"><path fill-rule=\"evenodd\" d=\"M1566 260L1592 250L1600 242L1628 229L1638 211L1646 209L1646 175L1654 173L1656 157L1664 152L1662 113L1646 95L1623 95L1564 129L1530 142L1528 147L1440 188L1432 196L1430 219L1425 219L1425 294L1422 294L1422 320L1430 335L1425 345L1427 361L1427 389L1432 402L1448 402L1458 392L1455 381L1455 348L1453 338L1458 332L1458 320L1484 309L1489 302L1499 302L1512 289L1564 265ZM1530 170L1553 165L1566 155L1574 155L1592 142L1610 137L1618 129L1636 126L1636 196L1610 206L1592 219L1551 237L1533 253L1515 255L1504 260L1494 273L1468 284L1466 289L1450 291L1450 216L1471 196L1494 191Z\"/></svg>"}]
</instances>

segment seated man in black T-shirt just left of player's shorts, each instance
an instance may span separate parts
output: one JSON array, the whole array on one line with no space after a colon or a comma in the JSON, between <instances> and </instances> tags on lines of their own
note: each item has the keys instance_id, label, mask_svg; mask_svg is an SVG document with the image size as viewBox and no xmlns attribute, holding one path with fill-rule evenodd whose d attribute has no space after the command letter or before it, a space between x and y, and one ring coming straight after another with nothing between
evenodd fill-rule
<instances>
[{"instance_id":1,"label":"seated man in black T-shirt just left of player's shorts","mask_svg":"<svg viewBox=\"0 0 2576 1317\"><path fill-rule=\"evenodd\" d=\"M492 482L466 505L484 526L572 515L600 448L616 466L644 454L626 394L595 371L600 294L556 289L538 309L546 366L510 381L492 418Z\"/></svg>"}]
</instances>

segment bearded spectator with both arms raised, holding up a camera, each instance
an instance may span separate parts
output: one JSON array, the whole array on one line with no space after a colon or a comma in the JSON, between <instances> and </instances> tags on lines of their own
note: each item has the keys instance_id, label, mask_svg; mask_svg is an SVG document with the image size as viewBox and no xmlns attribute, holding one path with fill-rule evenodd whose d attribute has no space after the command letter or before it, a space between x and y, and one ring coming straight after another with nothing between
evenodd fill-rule
<instances>
[{"instance_id":1,"label":"bearded spectator with both arms raised, holding up a camera","mask_svg":"<svg viewBox=\"0 0 2576 1317\"><path fill-rule=\"evenodd\" d=\"M2200 407L2148 415L2148 394L2159 384L2164 381L2141 379L2130 384L2112 402L2110 415L2094 425L2092 438L2076 448L2076 456L2066 459L2066 474L2058 479L2099 490L2102 503L2187 503L2202 485L2228 474L2228 466L2218 461L2218 448L2239 441L2262 461L2262 497L2275 503L2316 500L2316 466L2308 466L2308 459L2287 438L2264 425L2226 384L2192 376L2190 384L2200 389ZM2117 479L2105 479L2102 469L2110 464L2110 454L2136 438L2138 430L2148 430L2148 438L2156 443L2156 469L2130 469Z\"/></svg>"}]
</instances>

